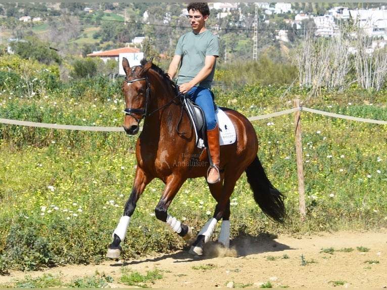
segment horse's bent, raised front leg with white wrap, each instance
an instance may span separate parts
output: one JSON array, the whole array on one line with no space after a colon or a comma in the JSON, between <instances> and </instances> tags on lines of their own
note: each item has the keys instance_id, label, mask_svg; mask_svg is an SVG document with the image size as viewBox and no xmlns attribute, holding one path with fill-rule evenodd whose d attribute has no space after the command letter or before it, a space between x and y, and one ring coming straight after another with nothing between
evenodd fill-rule
<instances>
[{"instance_id":1,"label":"horse's bent, raised front leg with white wrap","mask_svg":"<svg viewBox=\"0 0 387 290\"><path fill-rule=\"evenodd\" d=\"M161 196L159 203L155 208L156 218L163 221L169 226L174 232L184 239L189 239L192 235L192 229L186 224L181 223L178 219L168 214L168 207L171 204L173 198L176 196L177 191L180 189L183 181L171 178L166 183L163 195Z\"/></svg>"}]
</instances>

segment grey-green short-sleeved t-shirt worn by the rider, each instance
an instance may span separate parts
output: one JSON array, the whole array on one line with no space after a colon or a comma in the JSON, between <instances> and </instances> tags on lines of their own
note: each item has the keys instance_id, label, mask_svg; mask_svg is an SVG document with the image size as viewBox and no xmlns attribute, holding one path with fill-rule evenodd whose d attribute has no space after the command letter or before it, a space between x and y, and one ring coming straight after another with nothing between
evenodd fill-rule
<instances>
[{"instance_id":1,"label":"grey-green short-sleeved t-shirt worn by the rider","mask_svg":"<svg viewBox=\"0 0 387 290\"><path fill-rule=\"evenodd\" d=\"M183 34L176 45L175 55L181 56L181 64L177 77L177 84L193 79L204 67L206 56L219 56L219 40L211 31L206 30L195 34L193 31ZM215 66L209 76L196 84L200 87L211 88Z\"/></svg>"}]
</instances>

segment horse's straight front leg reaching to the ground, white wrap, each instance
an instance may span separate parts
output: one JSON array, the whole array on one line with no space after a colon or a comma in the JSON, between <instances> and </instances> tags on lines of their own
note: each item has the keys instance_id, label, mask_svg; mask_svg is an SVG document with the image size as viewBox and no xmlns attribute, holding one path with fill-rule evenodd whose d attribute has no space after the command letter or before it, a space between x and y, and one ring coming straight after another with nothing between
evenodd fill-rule
<instances>
[{"instance_id":1,"label":"horse's straight front leg reaching to the ground, white wrap","mask_svg":"<svg viewBox=\"0 0 387 290\"><path fill-rule=\"evenodd\" d=\"M113 232L113 242L109 245L107 258L117 259L121 255L122 248L121 242L125 240L126 230L129 226L130 217L132 216L137 201L140 198L145 186L149 183L145 174L137 167L136 176L134 178L133 188L130 192L129 199L127 200L124 208L124 214L121 216L116 229Z\"/></svg>"}]
</instances>

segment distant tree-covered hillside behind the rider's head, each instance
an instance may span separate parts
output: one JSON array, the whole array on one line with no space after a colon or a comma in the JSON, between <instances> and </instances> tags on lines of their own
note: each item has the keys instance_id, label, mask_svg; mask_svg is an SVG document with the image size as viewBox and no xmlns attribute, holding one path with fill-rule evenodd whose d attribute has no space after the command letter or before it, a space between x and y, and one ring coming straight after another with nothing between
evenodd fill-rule
<instances>
[{"instance_id":1,"label":"distant tree-covered hillside behind the rider's head","mask_svg":"<svg viewBox=\"0 0 387 290\"><path fill-rule=\"evenodd\" d=\"M269 8L274 9L274 5L272 3ZM305 31L304 24L296 31L287 24L295 19L296 13L320 15L335 6L338 4L306 6L305 3L293 3L292 12L272 15L265 12L266 7L260 7L257 17L258 49L278 51L276 44L280 41L280 38L277 39L280 29L289 29L287 37L291 42L296 41ZM347 6L358 8L359 4ZM380 6L367 4L367 8ZM10 38L37 35L62 55L85 55L92 51L115 49L132 42L136 36L146 36L142 49L170 55L177 37L189 29L189 23L182 13L184 4L164 3L162 7L160 9L158 3L3 3L0 4L2 44L5 45ZM228 13L223 11L223 8L211 9L208 22L208 27L219 34L223 47L221 59L251 59L255 6L240 3Z\"/></svg>"}]
</instances>

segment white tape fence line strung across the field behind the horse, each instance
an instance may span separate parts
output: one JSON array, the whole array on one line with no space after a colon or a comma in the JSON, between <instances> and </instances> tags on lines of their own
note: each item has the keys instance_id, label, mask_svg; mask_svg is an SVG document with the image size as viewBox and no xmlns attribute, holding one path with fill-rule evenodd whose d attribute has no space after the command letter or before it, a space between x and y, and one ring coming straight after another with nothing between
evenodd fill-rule
<instances>
[{"instance_id":1,"label":"white tape fence line strung across the field behind the horse","mask_svg":"<svg viewBox=\"0 0 387 290\"><path fill-rule=\"evenodd\" d=\"M310 109L306 107L298 107L289 110L284 110L276 113L265 114L260 116L249 117L249 121L263 120L273 117L278 117L286 114L291 114L296 111L305 111L314 114L324 115L328 117L347 119L351 121L358 122L366 122L366 123L374 123L380 125L387 125L387 121L373 120L373 119L365 119L359 117L352 117L347 115L340 115L335 113L329 113L324 111L319 111L315 109ZM122 127L99 127L99 126L77 126L77 125L62 125L62 124L50 124L50 123L38 123L38 122L29 122L29 121L19 121L19 120L11 120L11 119L3 119L0 118L0 123L10 124L10 125L18 125L18 126L29 126L29 127L39 127L39 128L49 128L49 129L60 129L60 130L79 130L79 131L102 131L102 132L121 132L124 131Z\"/></svg>"}]
</instances>

